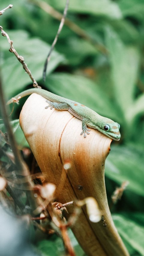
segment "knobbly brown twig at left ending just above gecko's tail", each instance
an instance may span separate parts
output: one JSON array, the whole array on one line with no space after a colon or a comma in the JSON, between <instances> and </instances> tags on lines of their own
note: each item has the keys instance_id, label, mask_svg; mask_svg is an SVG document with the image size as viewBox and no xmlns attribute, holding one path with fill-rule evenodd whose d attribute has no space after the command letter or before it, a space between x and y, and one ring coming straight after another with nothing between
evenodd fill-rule
<instances>
[{"instance_id":1,"label":"knobbly brown twig at left ending just above gecko's tail","mask_svg":"<svg viewBox=\"0 0 144 256\"><path fill-rule=\"evenodd\" d=\"M20 56L17 51L14 49L13 47L13 41L10 40L9 35L3 30L3 27L0 26L0 30L1 30L1 35L2 36L6 36L7 37L7 41L10 44L10 49L9 51L11 53L14 53L14 55L16 56L16 58L19 60L19 62L22 64L23 69L26 71L26 73L29 75L29 77L31 78L32 82L33 82L33 86L37 87L37 88L41 88L40 86L38 86L38 83L35 81L35 79L33 78L31 71L28 69L28 66L26 65L26 63L24 62L24 58L22 56Z\"/></svg>"}]
</instances>

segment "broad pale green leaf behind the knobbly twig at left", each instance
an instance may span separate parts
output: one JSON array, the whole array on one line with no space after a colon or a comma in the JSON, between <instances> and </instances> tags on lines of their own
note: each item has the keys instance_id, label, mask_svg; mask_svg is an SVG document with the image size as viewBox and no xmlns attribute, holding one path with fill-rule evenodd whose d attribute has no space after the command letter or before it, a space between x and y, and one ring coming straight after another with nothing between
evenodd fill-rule
<instances>
[{"instance_id":1,"label":"broad pale green leaf behind the knobbly twig at left","mask_svg":"<svg viewBox=\"0 0 144 256\"><path fill-rule=\"evenodd\" d=\"M7 31L10 39L13 40L13 46L19 55L23 56L35 80L42 78L44 62L49 52L50 46L39 38L29 38L26 31ZM27 84L32 83L29 75L22 68L21 63L16 59L13 53L8 52L9 44L6 37L0 37L1 51L4 52L2 65L4 90L7 98L13 96L14 91L22 90ZM64 56L52 52L49 61L47 74L51 73L61 62L64 62Z\"/></svg>"}]
</instances>

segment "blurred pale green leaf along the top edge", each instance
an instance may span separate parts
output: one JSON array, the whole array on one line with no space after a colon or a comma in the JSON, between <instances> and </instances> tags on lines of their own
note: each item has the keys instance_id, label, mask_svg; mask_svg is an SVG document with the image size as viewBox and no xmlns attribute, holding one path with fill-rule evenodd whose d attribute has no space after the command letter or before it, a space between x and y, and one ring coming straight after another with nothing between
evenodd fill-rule
<instances>
[{"instance_id":1,"label":"blurred pale green leaf along the top edge","mask_svg":"<svg viewBox=\"0 0 144 256\"><path fill-rule=\"evenodd\" d=\"M49 0L48 3L56 9L64 9L65 0ZM69 4L69 12L74 11L78 13L104 15L109 18L122 18L122 13L118 5L111 0L73 0Z\"/></svg>"}]
</instances>

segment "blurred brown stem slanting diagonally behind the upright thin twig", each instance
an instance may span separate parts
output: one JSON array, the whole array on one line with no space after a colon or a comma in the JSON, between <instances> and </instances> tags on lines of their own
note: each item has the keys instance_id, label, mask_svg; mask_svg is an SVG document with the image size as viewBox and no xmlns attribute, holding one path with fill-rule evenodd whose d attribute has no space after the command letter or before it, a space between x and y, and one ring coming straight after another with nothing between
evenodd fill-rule
<instances>
[{"instance_id":1,"label":"blurred brown stem slanting diagonally behind the upright thin twig","mask_svg":"<svg viewBox=\"0 0 144 256\"><path fill-rule=\"evenodd\" d=\"M54 8L52 8L49 4L47 4L44 1L37 1L37 0L29 0L29 2L34 3L35 5L39 6L41 9L43 9L45 12L50 14L53 18L57 20L62 19L62 14L58 11L56 11ZM84 38L86 41L90 42L92 45L94 45L101 53L104 55L107 55L108 51L106 47L102 44L99 44L97 41L95 41L93 38L91 38L84 29L81 29L76 23L72 22L68 18L65 18L64 24L68 26L73 32L75 32L80 37Z\"/></svg>"}]
</instances>

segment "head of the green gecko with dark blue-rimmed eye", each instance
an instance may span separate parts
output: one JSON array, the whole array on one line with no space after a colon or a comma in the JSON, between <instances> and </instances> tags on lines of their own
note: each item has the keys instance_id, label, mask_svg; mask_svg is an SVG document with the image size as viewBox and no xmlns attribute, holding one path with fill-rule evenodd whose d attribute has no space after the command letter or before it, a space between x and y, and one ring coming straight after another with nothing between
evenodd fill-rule
<instances>
[{"instance_id":1,"label":"head of the green gecko with dark blue-rimmed eye","mask_svg":"<svg viewBox=\"0 0 144 256\"><path fill-rule=\"evenodd\" d=\"M104 117L97 129L107 137L119 141L121 138L119 128L119 123L115 123L113 120Z\"/></svg>"}]
</instances>

